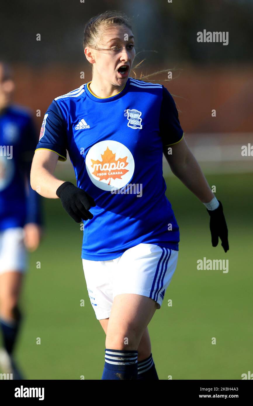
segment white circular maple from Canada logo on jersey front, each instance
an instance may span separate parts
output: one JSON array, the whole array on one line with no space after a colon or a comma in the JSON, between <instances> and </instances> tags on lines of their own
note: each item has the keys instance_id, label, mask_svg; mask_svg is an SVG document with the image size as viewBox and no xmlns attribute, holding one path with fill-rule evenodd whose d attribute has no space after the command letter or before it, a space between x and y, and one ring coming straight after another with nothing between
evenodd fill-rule
<instances>
[{"instance_id":1,"label":"white circular maple from Canada logo on jersey front","mask_svg":"<svg viewBox=\"0 0 253 406\"><path fill-rule=\"evenodd\" d=\"M85 164L91 181L102 190L123 188L134 174L134 157L118 141L100 141L93 145Z\"/></svg>"}]
</instances>

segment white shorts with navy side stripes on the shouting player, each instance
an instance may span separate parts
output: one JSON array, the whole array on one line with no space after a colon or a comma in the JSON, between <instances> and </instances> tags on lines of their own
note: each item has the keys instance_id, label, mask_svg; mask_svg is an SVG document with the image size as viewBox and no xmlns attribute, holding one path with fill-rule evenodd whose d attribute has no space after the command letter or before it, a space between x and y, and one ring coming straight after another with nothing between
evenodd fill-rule
<instances>
[{"instance_id":1,"label":"white shorts with navy side stripes on the shouting player","mask_svg":"<svg viewBox=\"0 0 253 406\"><path fill-rule=\"evenodd\" d=\"M177 266L178 251L138 244L108 261L82 259L89 298L97 320L110 316L116 295L133 293L154 299L160 309Z\"/></svg>"}]
</instances>

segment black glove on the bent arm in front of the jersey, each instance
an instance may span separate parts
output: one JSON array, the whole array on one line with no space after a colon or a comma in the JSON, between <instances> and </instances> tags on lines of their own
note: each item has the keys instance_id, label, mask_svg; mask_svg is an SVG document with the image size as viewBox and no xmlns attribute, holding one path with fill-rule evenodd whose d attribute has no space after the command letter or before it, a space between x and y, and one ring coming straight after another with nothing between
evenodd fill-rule
<instances>
[{"instance_id":1,"label":"black glove on the bent arm in front of the jersey","mask_svg":"<svg viewBox=\"0 0 253 406\"><path fill-rule=\"evenodd\" d=\"M91 206L96 205L93 197L84 190L77 188L73 183L64 182L56 190L56 195L61 199L66 212L77 223L80 223L82 219L86 221L93 218L93 214L89 212Z\"/></svg>"}]
</instances>

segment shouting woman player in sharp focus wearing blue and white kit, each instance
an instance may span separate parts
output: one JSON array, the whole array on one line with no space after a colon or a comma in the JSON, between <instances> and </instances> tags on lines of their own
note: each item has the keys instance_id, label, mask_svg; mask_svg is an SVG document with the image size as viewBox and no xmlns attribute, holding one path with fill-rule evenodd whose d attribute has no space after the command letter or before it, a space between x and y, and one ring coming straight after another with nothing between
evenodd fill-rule
<instances>
[{"instance_id":1,"label":"shouting woman player in sharp focus wearing blue and white kit","mask_svg":"<svg viewBox=\"0 0 253 406\"><path fill-rule=\"evenodd\" d=\"M187 147L169 91L129 76L135 50L127 17L115 11L94 17L84 29L83 46L92 80L50 104L31 186L39 185L44 197L59 197L76 222L84 220L83 270L106 333L102 379L157 380L147 326L175 271L179 242L165 196L163 153L208 208L213 245L220 237L225 251L227 226ZM77 187L53 175L66 151Z\"/></svg>"}]
</instances>

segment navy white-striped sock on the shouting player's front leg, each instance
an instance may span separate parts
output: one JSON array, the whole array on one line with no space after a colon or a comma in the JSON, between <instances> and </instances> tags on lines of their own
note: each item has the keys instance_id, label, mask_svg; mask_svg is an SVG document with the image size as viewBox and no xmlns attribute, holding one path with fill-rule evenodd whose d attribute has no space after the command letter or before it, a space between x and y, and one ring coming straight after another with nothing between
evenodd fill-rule
<instances>
[{"instance_id":1,"label":"navy white-striped sock on the shouting player's front leg","mask_svg":"<svg viewBox=\"0 0 253 406\"><path fill-rule=\"evenodd\" d=\"M105 349L105 364L102 379L137 379L137 350Z\"/></svg>"}]
</instances>

